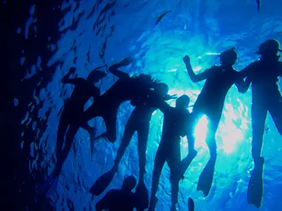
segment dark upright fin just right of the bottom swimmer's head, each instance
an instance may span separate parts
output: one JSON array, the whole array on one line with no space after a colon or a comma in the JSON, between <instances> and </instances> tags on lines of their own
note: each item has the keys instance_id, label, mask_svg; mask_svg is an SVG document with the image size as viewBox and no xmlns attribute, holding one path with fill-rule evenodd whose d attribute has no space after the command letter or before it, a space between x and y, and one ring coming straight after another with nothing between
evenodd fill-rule
<instances>
[{"instance_id":1,"label":"dark upright fin just right of the bottom swimmer's head","mask_svg":"<svg viewBox=\"0 0 282 211\"><path fill-rule=\"evenodd\" d=\"M137 197L137 210L147 210L149 207L149 192L144 181L138 183L135 196Z\"/></svg>"}]
</instances>

